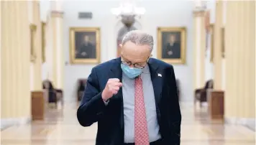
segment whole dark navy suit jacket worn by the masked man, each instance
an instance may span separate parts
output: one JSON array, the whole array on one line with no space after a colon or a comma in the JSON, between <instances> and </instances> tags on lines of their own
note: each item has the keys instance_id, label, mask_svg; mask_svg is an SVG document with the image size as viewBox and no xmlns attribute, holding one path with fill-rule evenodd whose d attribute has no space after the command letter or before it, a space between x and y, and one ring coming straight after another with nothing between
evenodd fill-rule
<instances>
[{"instance_id":1,"label":"whole dark navy suit jacket worn by the masked man","mask_svg":"<svg viewBox=\"0 0 256 145\"><path fill-rule=\"evenodd\" d=\"M81 126L98 122L96 145L122 145L124 143L124 108L122 88L105 106L101 98L109 78L122 81L121 59L104 62L91 70L86 90L77 111ZM180 144L180 106L173 66L150 58L148 65L155 93L155 106L160 134L165 144ZM162 75L162 77L159 76Z\"/></svg>"}]
</instances>

